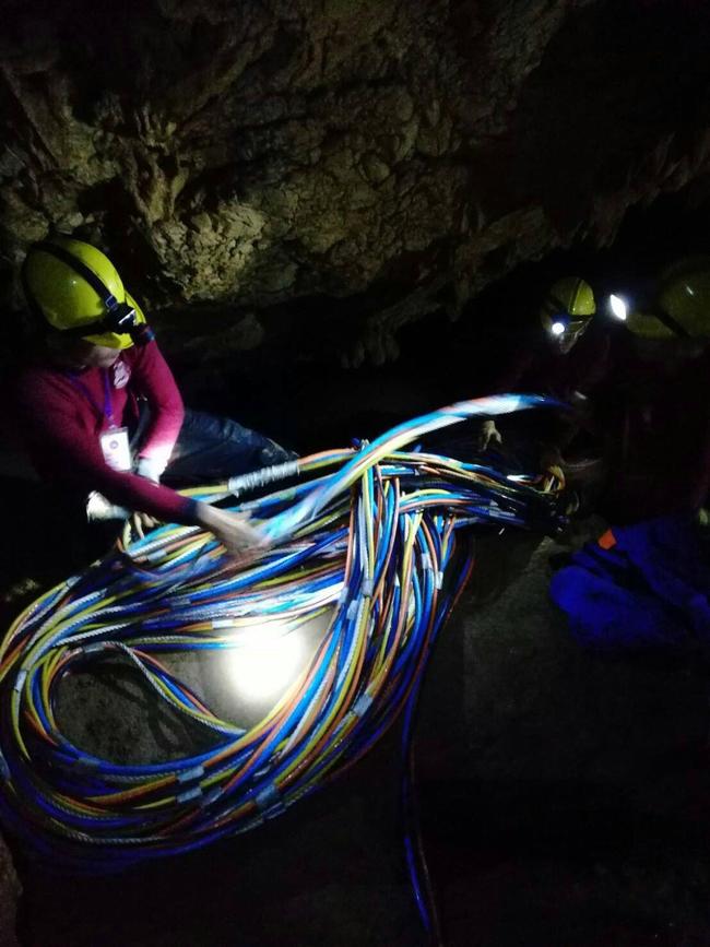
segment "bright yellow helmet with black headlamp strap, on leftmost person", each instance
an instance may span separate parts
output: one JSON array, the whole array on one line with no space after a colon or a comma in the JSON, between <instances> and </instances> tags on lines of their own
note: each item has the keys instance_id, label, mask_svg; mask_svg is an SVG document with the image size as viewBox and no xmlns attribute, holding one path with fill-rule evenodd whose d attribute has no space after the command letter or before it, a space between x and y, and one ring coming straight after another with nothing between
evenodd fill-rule
<instances>
[{"instance_id":1,"label":"bright yellow helmet with black headlamp strap, on leftmost person","mask_svg":"<svg viewBox=\"0 0 710 947\"><path fill-rule=\"evenodd\" d=\"M153 338L116 268L91 244L72 237L34 244L22 282L32 310L58 332L109 348Z\"/></svg>"}]
</instances>

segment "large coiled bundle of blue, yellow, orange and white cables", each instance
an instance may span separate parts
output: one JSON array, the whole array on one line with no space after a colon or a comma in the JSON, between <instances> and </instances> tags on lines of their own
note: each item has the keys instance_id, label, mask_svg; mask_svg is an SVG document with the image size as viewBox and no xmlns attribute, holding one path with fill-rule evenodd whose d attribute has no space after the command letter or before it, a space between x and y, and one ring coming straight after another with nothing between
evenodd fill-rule
<instances>
[{"instance_id":1,"label":"large coiled bundle of blue, yellow, orange and white cables","mask_svg":"<svg viewBox=\"0 0 710 947\"><path fill-rule=\"evenodd\" d=\"M555 532L561 483L402 448L476 415L547 403L462 402L355 450L298 462L296 485L230 509L272 547L239 569L210 533L165 525L129 540L26 608L0 647L0 806L40 853L116 867L258 826L352 766L417 693L473 566L473 525ZM271 471L270 480L274 478ZM190 490L228 502L235 483ZM220 719L161 652L242 647L328 626L256 725ZM284 630L285 629L285 630ZM206 748L123 765L74 745L57 720L72 672L106 655L205 732Z\"/></svg>"}]
</instances>

